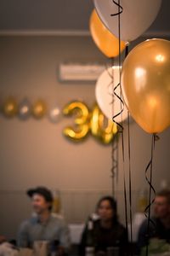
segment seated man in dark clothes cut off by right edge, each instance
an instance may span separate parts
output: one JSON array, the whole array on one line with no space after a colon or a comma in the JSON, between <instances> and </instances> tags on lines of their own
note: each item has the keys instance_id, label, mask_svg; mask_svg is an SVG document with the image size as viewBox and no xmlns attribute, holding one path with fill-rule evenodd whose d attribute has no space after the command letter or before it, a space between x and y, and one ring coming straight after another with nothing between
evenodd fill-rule
<instances>
[{"instance_id":1,"label":"seated man in dark clothes cut off by right edge","mask_svg":"<svg viewBox=\"0 0 170 256\"><path fill-rule=\"evenodd\" d=\"M151 218L153 221L149 225L145 219L139 229L138 253L140 249L148 243L150 238L164 239L170 242L170 190L164 189L156 194L154 203L154 214Z\"/></svg>"}]
</instances>

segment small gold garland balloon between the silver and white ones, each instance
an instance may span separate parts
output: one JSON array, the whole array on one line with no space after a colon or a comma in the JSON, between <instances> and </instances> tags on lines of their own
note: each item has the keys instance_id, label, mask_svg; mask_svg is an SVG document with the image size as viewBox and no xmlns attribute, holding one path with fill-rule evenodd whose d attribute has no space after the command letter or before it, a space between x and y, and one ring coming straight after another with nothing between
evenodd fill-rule
<instances>
[{"instance_id":1,"label":"small gold garland balloon between the silver and white ones","mask_svg":"<svg viewBox=\"0 0 170 256\"><path fill-rule=\"evenodd\" d=\"M42 100L38 100L32 106L32 115L36 119L42 119L42 117L47 113L47 105Z\"/></svg>"}]
</instances>

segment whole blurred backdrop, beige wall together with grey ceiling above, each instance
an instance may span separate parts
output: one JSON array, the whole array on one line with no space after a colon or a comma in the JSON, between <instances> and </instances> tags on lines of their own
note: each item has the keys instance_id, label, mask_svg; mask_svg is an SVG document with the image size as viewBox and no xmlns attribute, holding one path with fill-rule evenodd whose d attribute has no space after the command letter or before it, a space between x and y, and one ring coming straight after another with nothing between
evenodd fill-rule
<instances>
[{"instance_id":1,"label":"whole blurred backdrop, beige wall together with grey ceiling above","mask_svg":"<svg viewBox=\"0 0 170 256\"><path fill-rule=\"evenodd\" d=\"M92 136L75 143L63 135L66 126L74 125L74 118L65 117L62 109L74 100L93 109L96 80L62 80L60 65L111 65L94 44L88 29L93 9L92 0L0 0L1 106L12 96L16 102L27 98L31 104L42 99L48 108L57 106L60 111L57 122L48 115L22 120L0 114L0 230L8 238L14 238L20 222L31 215L26 189L44 185L57 191L59 213L69 224L83 223L94 212L99 197L112 193L111 144L99 143ZM170 2L162 0L154 23L130 47L147 38L169 39L169 9ZM124 129L127 145L126 122ZM130 133L134 213L141 191L147 189L144 169L150 160L151 136L133 120ZM124 222L121 143L118 138L115 195ZM156 189L169 183L169 150L167 129L156 143L153 181ZM125 152L127 159L127 148Z\"/></svg>"}]
</instances>

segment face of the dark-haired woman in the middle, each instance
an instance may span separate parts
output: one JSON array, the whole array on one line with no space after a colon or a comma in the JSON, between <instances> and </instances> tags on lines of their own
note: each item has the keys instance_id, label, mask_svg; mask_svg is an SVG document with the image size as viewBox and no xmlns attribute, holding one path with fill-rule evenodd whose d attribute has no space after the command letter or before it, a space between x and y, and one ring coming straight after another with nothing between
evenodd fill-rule
<instances>
[{"instance_id":1,"label":"face of the dark-haired woman in the middle","mask_svg":"<svg viewBox=\"0 0 170 256\"><path fill-rule=\"evenodd\" d=\"M98 208L99 218L101 220L111 220L114 217L115 212L111 208L111 203L108 200L101 201Z\"/></svg>"}]
</instances>

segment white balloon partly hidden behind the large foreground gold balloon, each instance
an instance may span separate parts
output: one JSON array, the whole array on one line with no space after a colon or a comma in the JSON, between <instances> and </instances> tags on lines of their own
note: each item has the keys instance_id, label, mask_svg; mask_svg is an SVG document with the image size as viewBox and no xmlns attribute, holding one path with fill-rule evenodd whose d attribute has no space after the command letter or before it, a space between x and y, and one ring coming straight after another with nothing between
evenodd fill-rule
<instances>
[{"instance_id":1,"label":"white balloon partly hidden behind the large foreground gold balloon","mask_svg":"<svg viewBox=\"0 0 170 256\"><path fill-rule=\"evenodd\" d=\"M110 67L99 76L95 87L96 100L99 108L108 119L112 119L114 115L121 112L123 105L120 99L114 95L113 89L119 84L119 67ZM116 94L120 96L120 87L116 90ZM127 119L127 108L124 106L122 114L119 114L115 120L121 123Z\"/></svg>"}]
</instances>

